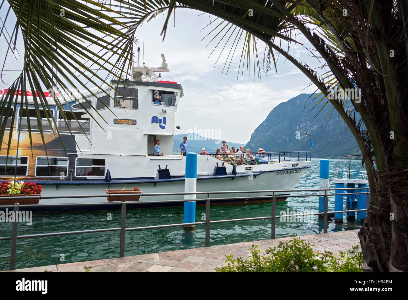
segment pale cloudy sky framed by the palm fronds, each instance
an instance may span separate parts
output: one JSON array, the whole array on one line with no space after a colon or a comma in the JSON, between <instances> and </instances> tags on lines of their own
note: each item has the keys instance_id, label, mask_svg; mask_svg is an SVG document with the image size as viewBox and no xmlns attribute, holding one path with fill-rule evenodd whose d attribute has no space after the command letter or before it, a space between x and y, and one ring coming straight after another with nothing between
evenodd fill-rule
<instances>
[{"instance_id":1,"label":"pale cloudy sky framed by the palm fronds","mask_svg":"<svg viewBox=\"0 0 408 300\"><path fill-rule=\"evenodd\" d=\"M0 12L0 16L3 15L4 11ZM141 47L141 62L144 55L144 62L150 67L160 67L160 53L164 53L171 73L162 73L162 80L182 84L184 97L181 98L177 110L177 126L180 126L177 134L201 131L207 132L210 135L208 138L246 144L253 131L275 106L300 93L313 93L316 90L303 73L282 57L277 61L278 73L273 69L267 74L261 73L261 80L253 80L252 74L247 74L244 70L243 76L239 73L237 78L242 43L238 45L226 74L223 68L231 46L226 47L217 63L215 62L225 42L221 42L212 54L211 51L220 40L219 36L206 47L215 34L209 37L206 35L220 23L217 20L211 27L207 26L210 20L215 20L214 16L192 9L176 9L175 23L172 15L162 41L163 36L160 33L164 20L165 15L159 14L142 24L137 30L136 47ZM296 36L298 42L307 46L307 41L302 38L301 35ZM21 52L22 47L20 42L18 49ZM257 50L262 62L262 41L257 42ZM5 69L21 69L21 59L11 57L6 51L5 47L0 49L1 58L8 56ZM290 53L312 67L319 66L317 59L303 46L297 45L294 48L292 45ZM0 82L0 89L5 89L13 82L18 71L7 71L2 75L4 82ZM214 133L214 136L210 133Z\"/></svg>"}]
</instances>

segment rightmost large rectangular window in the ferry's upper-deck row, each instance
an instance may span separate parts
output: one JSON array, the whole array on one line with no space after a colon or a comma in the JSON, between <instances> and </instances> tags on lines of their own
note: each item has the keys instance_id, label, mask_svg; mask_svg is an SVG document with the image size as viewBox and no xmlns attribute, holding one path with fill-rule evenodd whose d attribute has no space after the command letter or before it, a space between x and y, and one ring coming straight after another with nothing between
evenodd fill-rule
<instances>
[{"instance_id":1,"label":"rightmost large rectangular window in the ferry's upper-deck row","mask_svg":"<svg viewBox=\"0 0 408 300\"><path fill-rule=\"evenodd\" d=\"M64 114L67 117L67 120L64 120L61 111L58 111L58 129L60 133L70 133L70 129L72 133L84 134L90 132L91 116L89 116L88 113L80 111L64 111Z\"/></svg>"}]
</instances>

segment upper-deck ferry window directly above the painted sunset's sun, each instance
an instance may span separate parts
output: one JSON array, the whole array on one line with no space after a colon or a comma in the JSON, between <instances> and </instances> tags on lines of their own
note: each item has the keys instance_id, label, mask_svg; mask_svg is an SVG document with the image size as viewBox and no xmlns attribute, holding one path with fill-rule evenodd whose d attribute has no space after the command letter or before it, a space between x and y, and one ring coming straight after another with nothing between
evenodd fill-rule
<instances>
[{"instance_id":1,"label":"upper-deck ferry window directly above the painted sunset's sun","mask_svg":"<svg viewBox=\"0 0 408 300\"><path fill-rule=\"evenodd\" d=\"M39 109L40 111L40 116L41 116L41 127L42 127L42 132L44 133L51 133L52 129L51 129L51 125L53 121L52 121L52 116L54 114L54 111L47 111L44 109ZM20 121L17 121L17 126L19 127L20 131L28 131L28 119L27 119L27 114L28 114L28 118L30 120L30 130L31 132L39 132L40 131L40 126L38 126L38 121L36 118L36 114L35 114L35 109L34 108L29 108L28 112L27 109L24 108L20 108L18 111L18 116L20 116L20 114L22 115L21 118L21 126L20 126Z\"/></svg>"}]
</instances>

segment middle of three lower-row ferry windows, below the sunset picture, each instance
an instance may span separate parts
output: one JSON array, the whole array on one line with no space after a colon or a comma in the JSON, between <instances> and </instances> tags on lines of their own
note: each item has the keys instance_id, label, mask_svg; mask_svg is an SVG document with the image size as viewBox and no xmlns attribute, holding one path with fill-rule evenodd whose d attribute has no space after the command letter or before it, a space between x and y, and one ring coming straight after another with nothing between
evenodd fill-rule
<instances>
[{"instance_id":1,"label":"middle of three lower-row ferry windows, below the sunset picture","mask_svg":"<svg viewBox=\"0 0 408 300\"><path fill-rule=\"evenodd\" d=\"M61 177L68 174L67 157L38 156L35 162L35 176Z\"/></svg>"}]
</instances>

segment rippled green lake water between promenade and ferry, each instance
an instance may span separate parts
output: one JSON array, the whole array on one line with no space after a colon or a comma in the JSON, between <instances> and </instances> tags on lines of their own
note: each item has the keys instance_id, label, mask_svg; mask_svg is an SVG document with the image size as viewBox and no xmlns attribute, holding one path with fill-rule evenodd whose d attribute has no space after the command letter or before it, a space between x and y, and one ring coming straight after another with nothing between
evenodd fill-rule
<instances>
[{"instance_id":1,"label":"rippled green lake water between promenade and ferry","mask_svg":"<svg viewBox=\"0 0 408 300\"><path fill-rule=\"evenodd\" d=\"M299 181L296 189L319 188L319 159L312 159L311 167ZM348 160L330 160L330 188L333 178L340 178L341 169L348 169ZM363 171L360 160L352 160L351 169ZM361 178L360 178L361 179ZM299 193L300 194L300 193ZM329 197L328 211L334 211L334 196ZM293 211L318 211L318 197L288 198L276 204L277 215ZM205 206L196 209L196 220L202 218ZM75 213L35 213L33 224L20 223L18 235L120 227L120 211L111 211L112 220L107 220L108 211ZM270 216L271 204L213 205L211 220ZM329 219L328 231L358 229L362 224L349 222L344 214L343 224ZM159 224L182 223L183 207L133 209L126 213L126 227L142 227ZM301 236L323 233L323 222L317 219L306 222L281 222L276 220L276 237ZM11 235L11 223L0 223L0 236ZM250 242L271 238L271 220L253 220L211 224L210 246ZM16 268L38 267L50 264L98 260L119 257L119 231L85 233L49 238L30 238L17 241ZM205 225L196 226L195 231L184 231L182 227L148 229L126 232L125 256L204 247ZM0 241L0 270L7 270L10 261L10 241ZM62 258L64 260L62 261Z\"/></svg>"}]
</instances>

